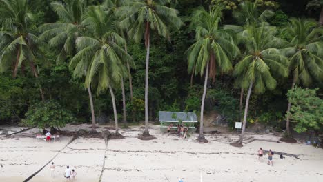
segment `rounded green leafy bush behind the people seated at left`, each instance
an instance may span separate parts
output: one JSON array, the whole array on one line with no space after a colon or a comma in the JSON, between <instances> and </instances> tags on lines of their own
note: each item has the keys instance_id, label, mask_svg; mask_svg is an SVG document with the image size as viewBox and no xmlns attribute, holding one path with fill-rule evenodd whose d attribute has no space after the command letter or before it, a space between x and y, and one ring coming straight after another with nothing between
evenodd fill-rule
<instances>
[{"instance_id":1,"label":"rounded green leafy bush behind the people seated at left","mask_svg":"<svg viewBox=\"0 0 323 182\"><path fill-rule=\"evenodd\" d=\"M70 111L61 108L57 101L40 101L31 105L22 120L23 125L45 127L63 127L66 123L73 121L74 117Z\"/></svg>"}]
</instances>

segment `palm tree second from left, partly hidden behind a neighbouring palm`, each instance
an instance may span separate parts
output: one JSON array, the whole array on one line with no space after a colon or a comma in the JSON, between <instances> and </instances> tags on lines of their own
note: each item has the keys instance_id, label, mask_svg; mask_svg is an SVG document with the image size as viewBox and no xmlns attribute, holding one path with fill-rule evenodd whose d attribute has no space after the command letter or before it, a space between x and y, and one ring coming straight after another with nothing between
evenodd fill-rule
<instances>
[{"instance_id":1,"label":"palm tree second from left, partly hidden behind a neighbouring palm","mask_svg":"<svg viewBox=\"0 0 323 182\"><path fill-rule=\"evenodd\" d=\"M75 55L75 40L85 33L81 22L86 12L86 0L64 0L64 3L54 1L51 6L59 17L59 21L43 24L39 28L42 32L40 38L48 41L50 47L59 51L56 61L62 63L66 61L68 56ZM86 75L88 64L84 64L84 70L81 70L81 74ZM88 85L87 90L92 116L92 132L95 132L95 111L90 85Z\"/></svg>"}]
</instances>

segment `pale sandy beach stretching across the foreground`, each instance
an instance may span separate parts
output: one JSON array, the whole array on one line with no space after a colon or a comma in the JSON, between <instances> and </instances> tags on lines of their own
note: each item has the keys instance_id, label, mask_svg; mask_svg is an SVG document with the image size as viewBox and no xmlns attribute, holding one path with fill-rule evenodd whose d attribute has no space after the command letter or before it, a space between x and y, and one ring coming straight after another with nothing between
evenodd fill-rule
<instances>
[{"instance_id":1,"label":"pale sandy beach stretching across the foreground","mask_svg":"<svg viewBox=\"0 0 323 182\"><path fill-rule=\"evenodd\" d=\"M88 128L90 125L68 125L65 130ZM2 127L1 127L2 128ZM103 127L98 130L104 130ZM104 139L79 137L69 145L70 137L61 142L36 141L32 136L37 129L28 130L6 138L0 135L0 181L23 181L42 168L52 158L55 162L55 176L50 178L50 165L46 165L30 181L64 181L66 165L77 171L75 181L99 181L102 165L105 163L101 181L323 181L323 150L305 145L303 142L289 144L267 141L253 141L235 148L229 143L237 139L235 134L206 134L209 143L195 141L197 134L189 139L161 133L157 126L151 126L150 134L157 139L137 139L142 128L120 130L125 139L108 141L105 150ZM112 130L111 130L112 132ZM280 136L271 134L246 134L246 138L278 141ZM257 150L272 149L274 166L267 165L267 155L258 161ZM279 159L277 152L296 154L300 159L285 156ZM104 155L106 154L106 158ZM104 160L105 159L105 160Z\"/></svg>"}]
</instances>

